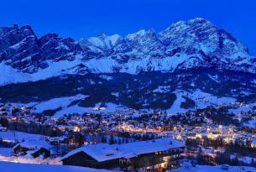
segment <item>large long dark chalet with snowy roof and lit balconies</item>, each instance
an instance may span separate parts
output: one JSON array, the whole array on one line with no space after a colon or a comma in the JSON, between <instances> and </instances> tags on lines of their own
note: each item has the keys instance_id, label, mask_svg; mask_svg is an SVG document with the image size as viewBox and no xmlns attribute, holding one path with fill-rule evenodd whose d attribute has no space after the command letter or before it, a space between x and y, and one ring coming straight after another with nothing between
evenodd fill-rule
<instances>
[{"instance_id":1,"label":"large long dark chalet with snowy roof and lit balconies","mask_svg":"<svg viewBox=\"0 0 256 172\"><path fill-rule=\"evenodd\" d=\"M99 143L74 149L61 159L65 165L97 169L159 169L177 163L185 144L173 138L107 144Z\"/></svg>"}]
</instances>

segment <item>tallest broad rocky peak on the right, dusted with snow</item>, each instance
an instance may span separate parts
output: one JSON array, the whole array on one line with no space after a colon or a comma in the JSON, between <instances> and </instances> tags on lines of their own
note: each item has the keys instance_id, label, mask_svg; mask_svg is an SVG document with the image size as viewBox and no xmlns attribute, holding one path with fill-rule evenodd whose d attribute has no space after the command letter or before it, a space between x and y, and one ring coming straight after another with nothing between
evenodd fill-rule
<instances>
[{"instance_id":1,"label":"tallest broad rocky peak on the right, dusted with snow","mask_svg":"<svg viewBox=\"0 0 256 172\"><path fill-rule=\"evenodd\" d=\"M173 23L159 33L159 39L167 50L180 47L185 54L203 52L222 58L238 53L248 55L248 48L224 29L217 29L204 18L195 18L187 22Z\"/></svg>"}]
</instances>

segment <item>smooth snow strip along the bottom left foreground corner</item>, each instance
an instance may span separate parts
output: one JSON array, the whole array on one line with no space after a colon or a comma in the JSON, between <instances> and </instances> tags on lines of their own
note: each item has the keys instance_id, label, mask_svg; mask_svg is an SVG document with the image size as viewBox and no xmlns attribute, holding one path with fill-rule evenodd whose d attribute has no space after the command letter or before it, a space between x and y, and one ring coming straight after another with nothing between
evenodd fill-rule
<instances>
[{"instance_id":1,"label":"smooth snow strip along the bottom left foreground corner","mask_svg":"<svg viewBox=\"0 0 256 172\"><path fill-rule=\"evenodd\" d=\"M54 165L54 164L21 164L0 161L1 171L3 172L107 172L107 169L91 169L86 167L76 167L67 165Z\"/></svg>"}]
</instances>

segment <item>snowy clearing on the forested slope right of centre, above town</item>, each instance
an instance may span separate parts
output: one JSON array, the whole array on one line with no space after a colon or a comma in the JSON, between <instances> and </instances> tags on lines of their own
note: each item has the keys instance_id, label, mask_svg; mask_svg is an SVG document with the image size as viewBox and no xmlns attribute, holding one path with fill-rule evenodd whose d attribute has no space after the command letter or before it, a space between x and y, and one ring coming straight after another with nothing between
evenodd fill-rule
<instances>
[{"instance_id":1,"label":"snowy clearing on the forested slope right of centre, above town","mask_svg":"<svg viewBox=\"0 0 256 172\"><path fill-rule=\"evenodd\" d=\"M182 96L186 96L190 99L192 99L194 102L196 102L197 108L204 108L211 105L218 105L218 104L231 104L236 102L237 100L232 97L217 97L213 96L209 93L202 92L200 90L196 91L181 91L176 90L174 93L177 96L177 99L175 100L174 104L170 107L170 109L167 110L168 114L176 114L178 112L187 112L191 109L184 109L180 107L181 102L185 102L185 99Z\"/></svg>"}]
</instances>

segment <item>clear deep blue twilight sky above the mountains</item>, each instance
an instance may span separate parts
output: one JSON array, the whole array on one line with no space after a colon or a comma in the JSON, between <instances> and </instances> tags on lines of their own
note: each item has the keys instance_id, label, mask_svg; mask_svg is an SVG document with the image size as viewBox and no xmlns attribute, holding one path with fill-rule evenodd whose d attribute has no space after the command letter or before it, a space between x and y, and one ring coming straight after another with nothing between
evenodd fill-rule
<instances>
[{"instance_id":1,"label":"clear deep blue twilight sky above the mountains","mask_svg":"<svg viewBox=\"0 0 256 172\"><path fill-rule=\"evenodd\" d=\"M39 36L74 39L97 34L161 31L170 23L206 18L256 55L255 0L1 0L0 26L29 24Z\"/></svg>"}]
</instances>

